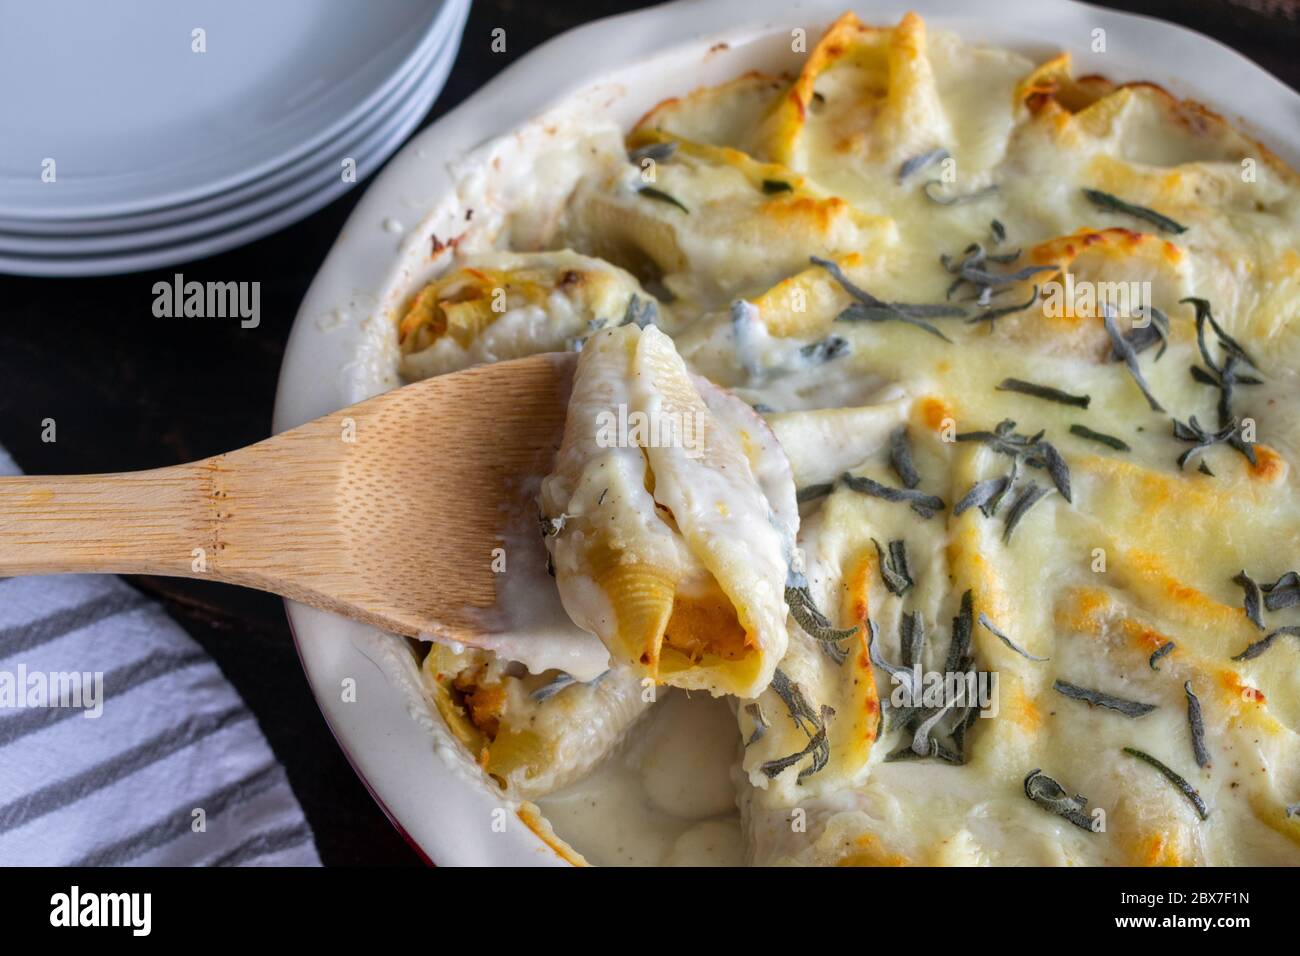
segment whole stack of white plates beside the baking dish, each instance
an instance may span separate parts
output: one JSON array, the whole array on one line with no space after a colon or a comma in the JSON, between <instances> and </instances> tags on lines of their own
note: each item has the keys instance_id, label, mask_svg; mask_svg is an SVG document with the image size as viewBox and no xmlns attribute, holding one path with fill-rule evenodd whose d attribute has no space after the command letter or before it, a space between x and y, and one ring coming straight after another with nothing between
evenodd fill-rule
<instances>
[{"instance_id":1,"label":"whole stack of white plates beside the baking dish","mask_svg":"<svg viewBox=\"0 0 1300 956\"><path fill-rule=\"evenodd\" d=\"M0 272L212 255L374 173L469 0L0 0Z\"/></svg>"}]
</instances>

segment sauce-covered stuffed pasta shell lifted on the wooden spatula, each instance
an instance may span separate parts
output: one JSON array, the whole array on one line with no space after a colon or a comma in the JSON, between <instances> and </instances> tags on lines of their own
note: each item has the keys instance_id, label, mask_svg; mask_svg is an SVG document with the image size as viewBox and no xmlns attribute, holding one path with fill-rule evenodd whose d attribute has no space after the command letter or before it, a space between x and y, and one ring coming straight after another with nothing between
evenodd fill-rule
<instances>
[{"instance_id":1,"label":"sauce-covered stuffed pasta shell lifted on the wooden spatula","mask_svg":"<svg viewBox=\"0 0 1300 956\"><path fill-rule=\"evenodd\" d=\"M564 607L615 661L715 695L753 697L771 680L796 511L788 466L770 464L775 440L755 440L764 431L742 403L715 412L658 329L589 339L541 503ZM775 470L767 488L755 468Z\"/></svg>"}]
</instances>

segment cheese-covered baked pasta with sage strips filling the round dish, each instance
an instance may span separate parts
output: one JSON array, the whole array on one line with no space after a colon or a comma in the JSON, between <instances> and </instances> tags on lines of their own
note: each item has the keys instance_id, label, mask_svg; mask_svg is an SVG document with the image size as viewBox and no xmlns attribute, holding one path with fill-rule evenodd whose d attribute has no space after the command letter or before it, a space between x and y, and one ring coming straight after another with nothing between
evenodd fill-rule
<instances>
[{"instance_id":1,"label":"cheese-covered baked pasta with sage strips filling the round dish","mask_svg":"<svg viewBox=\"0 0 1300 956\"><path fill-rule=\"evenodd\" d=\"M689 581L714 568L682 548L685 516L703 515L699 502L734 505L746 518L727 533L746 544L793 528L792 515L759 516L753 497L757 483L780 515L789 503L772 488L792 476L805 501L797 550L781 557L802 551L815 607L855 630L828 650L779 607L785 640L767 649L780 659L744 687L711 688L740 697L729 731L693 734L676 705L664 718L714 741L696 752L644 760L658 718L629 734L624 697L601 684L538 702L601 728L578 757L563 745L564 721L542 722L554 727L545 760L559 761L534 774L542 790L618 754L543 800L556 832L595 862L693 860L714 845L731 858L741 832L757 864L1300 862L1300 640L1282 631L1254 648L1300 626L1300 610L1283 579L1261 630L1234 580L1244 570L1271 583L1300 566L1292 170L1152 85L1075 78L1065 55L1036 66L928 34L915 16L876 27L853 14L800 75L749 74L668 100L624 142L593 134L584 156L563 209L521 209L514 230L529 248L573 251L463 256L462 273L412 302L406 373L555 349L656 299L654 323L685 367L758 408L771 432L746 427L720 390L698 386L697 399L731 416L729 433L748 436L740 447L768 451L745 451L742 490L673 463L647 470L641 450L588 447L555 512L592 514L607 485L584 470L603 462L627 505L627 541ZM566 268L606 291L558 293ZM477 307L458 317L458 302L500 287L521 317L484 323ZM586 347L636 345L619 332ZM1131 363L1117 360L1128 347ZM620 362L599 402L636 403L630 360ZM1004 420L1015 424L996 431ZM1179 463L1197 434L1221 429ZM771 464L772 447L788 471ZM958 514L982 486L984 507ZM1026 505L1032 486L1046 494ZM670 493L676 529L656 514ZM779 585L774 540L753 558ZM560 568L566 606L599 633L623 600L580 583L593 551L555 553L572 561ZM742 604L724 575L714 583ZM694 585L685 592L716 604L706 579ZM724 641L728 622L697 611L680 641ZM480 701L477 679L456 689L451 667L445 717L467 724L463 740L537 717L511 709L508 684L554 672L468 657L456 667L507 691ZM644 670L614 657L602 680L634 689ZM913 661L918 676L996 675L988 706L966 721L940 695L907 710L898 693ZM666 708L636 700L636 715ZM1200 805L1126 748L1182 778ZM681 791L684 769L712 783ZM1044 797L1041 778L1031 787L1034 771L1062 796ZM723 813L728 795L742 831Z\"/></svg>"}]
</instances>

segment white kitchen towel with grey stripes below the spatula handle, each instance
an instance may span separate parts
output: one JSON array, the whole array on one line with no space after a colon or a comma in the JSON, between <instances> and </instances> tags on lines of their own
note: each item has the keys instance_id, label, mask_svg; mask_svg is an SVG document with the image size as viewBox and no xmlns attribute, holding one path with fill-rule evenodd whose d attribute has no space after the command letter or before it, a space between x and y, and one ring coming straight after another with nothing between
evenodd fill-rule
<instances>
[{"instance_id":1,"label":"white kitchen towel with grey stripes below the spatula handle","mask_svg":"<svg viewBox=\"0 0 1300 956\"><path fill-rule=\"evenodd\" d=\"M0 473L16 473L0 450ZM0 865L318 866L257 721L117 578L0 580Z\"/></svg>"}]
</instances>

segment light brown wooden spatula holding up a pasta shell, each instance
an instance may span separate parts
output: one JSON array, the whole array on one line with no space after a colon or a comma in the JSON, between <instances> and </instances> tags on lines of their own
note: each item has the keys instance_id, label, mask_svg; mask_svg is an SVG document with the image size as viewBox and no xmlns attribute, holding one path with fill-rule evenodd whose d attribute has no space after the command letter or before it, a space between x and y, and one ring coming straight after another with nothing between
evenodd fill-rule
<instances>
[{"instance_id":1,"label":"light brown wooden spatula holding up a pasta shell","mask_svg":"<svg viewBox=\"0 0 1300 956\"><path fill-rule=\"evenodd\" d=\"M526 488L559 447L575 364L429 378L191 464L0 479L0 576L229 581L473 643L508 516L536 520Z\"/></svg>"}]
</instances>

